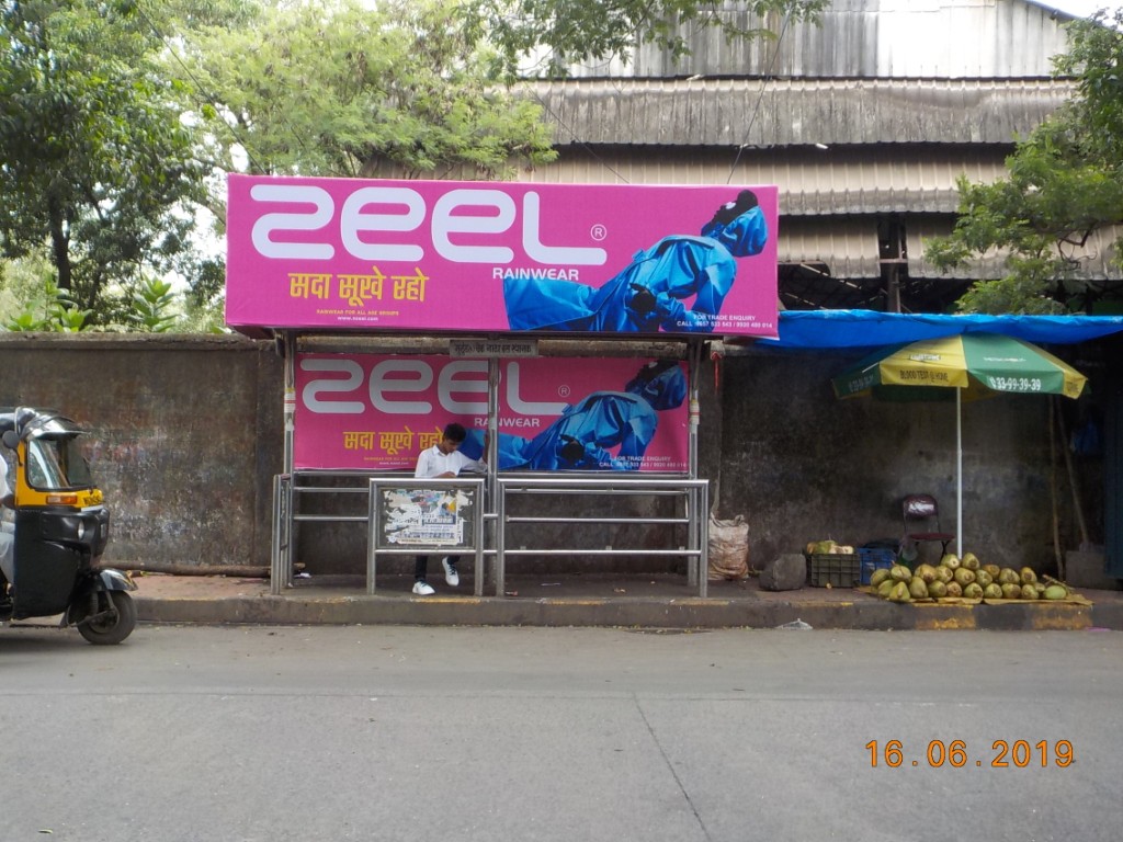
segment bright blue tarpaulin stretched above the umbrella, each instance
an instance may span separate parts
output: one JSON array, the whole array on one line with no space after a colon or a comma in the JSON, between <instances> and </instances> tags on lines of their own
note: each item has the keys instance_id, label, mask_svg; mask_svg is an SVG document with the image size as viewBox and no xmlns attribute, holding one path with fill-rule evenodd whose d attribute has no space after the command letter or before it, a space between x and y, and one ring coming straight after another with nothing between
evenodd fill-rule
<instances>
[{"instance_id":1,"label":"bright blue tarpaulin stretched above the umbrella","mask_svg":"<svg viewBox=\"0 0 1123 842\"><path fill-rule=\"evenodd\" d=\"M942 315L874 310L784 310L772 348L867 348L956 333L1002 333L1039 345L1074 345L1123 332L1123 315Z\"/></svg>"}]
</instances>

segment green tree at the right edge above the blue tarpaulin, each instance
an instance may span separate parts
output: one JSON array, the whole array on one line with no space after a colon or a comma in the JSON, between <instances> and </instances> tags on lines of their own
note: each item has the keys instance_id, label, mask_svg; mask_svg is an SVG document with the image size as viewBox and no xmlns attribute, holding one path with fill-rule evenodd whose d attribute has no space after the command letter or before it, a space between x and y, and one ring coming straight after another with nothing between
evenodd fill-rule
<instances>
[{"instance_id":1,"label":"green tree at the right edge above the blue tarpaulin","mask_svg":"<svg viewBox=\"0 0 1123 842\"><path fill-rule=\"evenodd\" d=\"M1057 75L1075 77L1076 95L1016 145L1008 177L960 179L956 228L925 250L944 267L1006 254L1006 275L975 283L960 311L1088 311L1123 293L1119 283L1078 278L1088 238L1123 223L1123 10L1068 26L1068 52L1053 63ZM1123 240L1115 250L1123 256Z\"/></svg>"}]
</instances>

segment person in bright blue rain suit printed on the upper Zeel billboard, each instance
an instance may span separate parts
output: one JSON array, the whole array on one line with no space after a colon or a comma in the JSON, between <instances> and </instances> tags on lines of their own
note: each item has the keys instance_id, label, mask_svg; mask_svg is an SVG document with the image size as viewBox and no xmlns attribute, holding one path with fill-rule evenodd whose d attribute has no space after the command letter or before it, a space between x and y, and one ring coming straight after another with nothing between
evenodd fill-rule
<instances>
[{"instance_id":1,"label":"person in bright blue rain suit printed on the upper Zeel billboard","mask_svg":"<svg viewBox=\"0 0 1123 842\"><path fill-rule=\"evenodd\" d=\"M664 237L600 289L573 281L512 276L503 299L512 330L709 333L737 278L738 257L760 254L768 225L742 190L718 209L702 236ZM693 306L684 303L694 296Z\"/></svg>"}]
</instances>

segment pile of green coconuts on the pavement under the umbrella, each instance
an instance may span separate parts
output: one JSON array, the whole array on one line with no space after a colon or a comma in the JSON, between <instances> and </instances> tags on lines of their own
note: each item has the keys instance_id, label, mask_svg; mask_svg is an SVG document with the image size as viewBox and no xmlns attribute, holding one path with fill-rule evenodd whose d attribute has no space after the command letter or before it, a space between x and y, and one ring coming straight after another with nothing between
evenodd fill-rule
<instances>
[{"instance_id":1,"label":"pile of green coconuts on the pavement under the umbrella","mask_svg":"<svg viewBox=\"0 0 1123 842\"><path fill-rule=\"evenodd\" d=\"M891 602L916 600L1066 600L1068 585L1048 576L1039 580L1031 567L979 564L974 552L962 558L948 553L938 565L917 565L910 569L894 565L874 570L869 585L878 596Z\"/></svg>"}]
</instances>

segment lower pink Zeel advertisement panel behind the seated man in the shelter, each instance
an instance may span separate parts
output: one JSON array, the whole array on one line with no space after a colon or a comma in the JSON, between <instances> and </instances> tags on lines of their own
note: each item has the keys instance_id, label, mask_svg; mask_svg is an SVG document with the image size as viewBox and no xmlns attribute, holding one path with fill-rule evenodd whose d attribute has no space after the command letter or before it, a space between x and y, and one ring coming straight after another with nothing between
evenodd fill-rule
<instances>
[{"instance_id":1,"label":"lower pink Zeel advertisement panel behind the seated man in the shelter","mask_svg":"<svg viewBox=\"0 0 1123 842\"><path fill-rule=\"evenodd\" d=\"M410 469L445 425L487 429L486 359L300 354L296 469ZM500 360L500 470L686 473L686 368L677 360Z\"/></svg>"}]
</instances>

